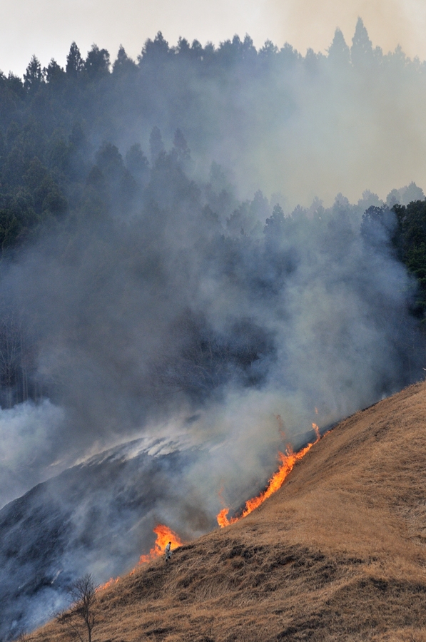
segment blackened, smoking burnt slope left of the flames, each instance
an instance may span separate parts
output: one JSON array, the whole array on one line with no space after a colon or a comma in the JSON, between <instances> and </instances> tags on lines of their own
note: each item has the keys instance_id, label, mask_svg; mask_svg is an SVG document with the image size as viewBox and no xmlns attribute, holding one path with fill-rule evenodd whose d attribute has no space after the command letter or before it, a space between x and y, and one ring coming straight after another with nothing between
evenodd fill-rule
<instances>
[{"instance_id":1,"label":"blackened, smoking burnt slope left of the flames","mask_svg":"<svg viewBox=\"0 0 426 642\"><path fill-rule=\"evenodd\" d=\"M136 564L161 509L173 511L172 481L188 494L182 471L200 454L183 438L136 439L4 506L0 641L46 622L50 611L68 603L67 587L78 576L89 571L105 582ZM201 532L214 524L212 518Z\"/></svg>"}]
</instances>

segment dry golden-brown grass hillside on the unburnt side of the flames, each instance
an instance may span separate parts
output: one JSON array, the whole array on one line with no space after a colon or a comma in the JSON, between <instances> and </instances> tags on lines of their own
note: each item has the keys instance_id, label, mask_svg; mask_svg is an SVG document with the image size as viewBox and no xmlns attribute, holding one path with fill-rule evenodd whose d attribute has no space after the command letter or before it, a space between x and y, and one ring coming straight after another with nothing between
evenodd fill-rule
<instances>
[{"instance_id":1,"label":"dry golden-brown grass hillside on the unburnt side of the flames","mask_svg":"<svg viewBox=\"0 0 426 642\"><path fill-rule=\"evenodd\" d=\"M95 642L426 642L426 384L341 422L245 519L98 596Z\"/></svg>"}]
</instances>

